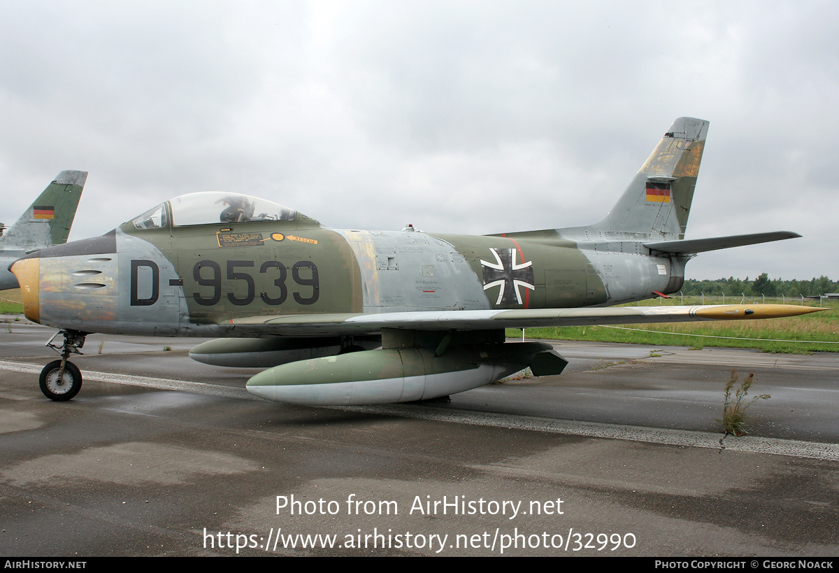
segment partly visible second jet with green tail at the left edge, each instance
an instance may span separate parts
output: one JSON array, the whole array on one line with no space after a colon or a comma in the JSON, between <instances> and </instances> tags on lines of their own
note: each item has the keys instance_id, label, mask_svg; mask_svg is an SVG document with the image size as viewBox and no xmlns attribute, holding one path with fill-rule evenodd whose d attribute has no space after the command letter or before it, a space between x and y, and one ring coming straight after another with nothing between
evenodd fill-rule
<instances>
[{"instance_id":1,"label":"partly visible second jet with green tail at the left edge","mask_svg":"<svg viewBox=\"0 0 839 573\"><path fill-rule=\"evenodd\" d=\"M0 223L0 291L18 288L8 266L24 255L67 242L87 171L61 171L11 227Z\"/></svg>"}]
</instances>

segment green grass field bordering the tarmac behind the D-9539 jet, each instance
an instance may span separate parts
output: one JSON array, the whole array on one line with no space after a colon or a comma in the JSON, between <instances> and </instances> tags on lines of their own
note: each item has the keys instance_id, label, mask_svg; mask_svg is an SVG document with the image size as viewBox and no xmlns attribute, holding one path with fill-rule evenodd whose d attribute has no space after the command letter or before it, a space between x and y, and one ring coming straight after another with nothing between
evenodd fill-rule
<instances>
[{"instance_id":1,"label":"green grass field bordering the tarmac behind the D-9539 jet","mask_svg":"<svg viewBox=\"0 0 839 573\"><path fill-rule=\"evenodd\" d=\"M20 289L0 292L0 314L22 314ZM679 304L679 298L662 303ZM706 297L706 304L722 300ZM727 302L739 303L739 298L727 297ZM750 301L747 301L750 302ZM754 302L754 301L751 301ZM641 305L658 305L659 300L644 301ZM699 298L685 298L684 304L701 304ZM636 306L632 303L626 306ZM818 306L818 303L815 303ZM809 353L839 352L839 303L825 302L829 310L796 318L771 320L731 320L705 323L624 324L609 326L568 326L549 329L526 329L529 339L595 340L599 342L626 342L654 344L655 346L705 346L728 348L756 348L764 352ZM652 332L650 332L652 331ZM521 331L510 329L510 338L519 338ZM716 338L722 337L722 338ZM756 339L756 340L750 340ZM774 342L795 340L795 342ZM819 343L822 344L819 344ZM833 343L833 344L824 344Z\"/></svg>"}]
</instances>

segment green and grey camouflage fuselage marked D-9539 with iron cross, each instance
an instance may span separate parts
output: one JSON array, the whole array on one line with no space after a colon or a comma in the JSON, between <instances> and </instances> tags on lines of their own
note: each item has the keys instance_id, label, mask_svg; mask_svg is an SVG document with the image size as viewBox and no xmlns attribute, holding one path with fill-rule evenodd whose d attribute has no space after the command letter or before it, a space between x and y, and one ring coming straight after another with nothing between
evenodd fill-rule
<instances>
[{"instance_id":1,"label":"green and grey camouflage fuselage marked D-9539 with iron cross","mask_svg":"<svg viewBox=\"0 0 839 573\"><path fill-rule=\"evenodd\" d=\"M41 250L26 261L39 266L39 322L197 336L258 315L574 308L680 286L678 261L651 257L638 244L633 252L597 252L559 237L339 230L298 219L164 229L124 223Z\"/></svg>"}]
</instances>

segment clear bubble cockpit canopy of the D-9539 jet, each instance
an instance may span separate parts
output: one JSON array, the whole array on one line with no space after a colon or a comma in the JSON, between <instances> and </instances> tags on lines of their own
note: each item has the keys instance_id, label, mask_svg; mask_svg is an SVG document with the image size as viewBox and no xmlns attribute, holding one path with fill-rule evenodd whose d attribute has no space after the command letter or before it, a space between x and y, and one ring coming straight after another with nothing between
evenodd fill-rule
<instances>
[{"instance_id":1,"label":"clear bubble cockpit canopy of the D-9539 jet","mask_svg":"<svg viewBox=\"0 0 839 573\"><path fill-rule=\"evenodd\" d=\"M137 229L160 229L169 224L169 216L173 226L185 227L208 223L294 221L297 212L279 203L241 193L202 192L181 195L161 203L134 218L132 223Z\"/></svg>"}]
</instances>

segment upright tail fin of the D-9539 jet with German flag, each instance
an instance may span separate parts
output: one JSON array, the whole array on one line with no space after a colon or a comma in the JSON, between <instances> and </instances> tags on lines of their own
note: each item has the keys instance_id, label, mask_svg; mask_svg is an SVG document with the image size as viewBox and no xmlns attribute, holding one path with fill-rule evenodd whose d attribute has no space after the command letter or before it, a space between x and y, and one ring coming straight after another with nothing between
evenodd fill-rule
<instances>
[{"instance_id":1,"label":"upright tail fin of the D-9539 jet with German flag","mask_svg":"<svg viewBox=\"0 0 839 573\"><path fill-rule=\"evenodd\" d=\"M684 239L707 132L703 119L676 119L612 211L587 230Z\"/></svg>"}]
</instances>

